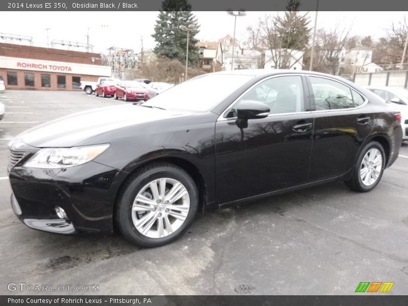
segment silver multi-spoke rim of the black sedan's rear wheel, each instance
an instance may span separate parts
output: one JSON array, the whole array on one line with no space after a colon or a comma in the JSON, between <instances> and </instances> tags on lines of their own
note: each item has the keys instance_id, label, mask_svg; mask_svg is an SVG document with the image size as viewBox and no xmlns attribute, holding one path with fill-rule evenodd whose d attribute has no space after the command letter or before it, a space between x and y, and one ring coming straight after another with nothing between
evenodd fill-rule
<instances>
[{"instance_id":1,"label":"silver multi-spoke rim of the black sedan's rear wheel","mask_svg":"<svg viewBox=\"0 0 408 306\"><path fill-rule=\"evenodd\" d=\"M373 185L381 173L382 155L377 148L371 148L366 152L360 165L360 179L365 186Z\"/></svg>"}]
</instances>

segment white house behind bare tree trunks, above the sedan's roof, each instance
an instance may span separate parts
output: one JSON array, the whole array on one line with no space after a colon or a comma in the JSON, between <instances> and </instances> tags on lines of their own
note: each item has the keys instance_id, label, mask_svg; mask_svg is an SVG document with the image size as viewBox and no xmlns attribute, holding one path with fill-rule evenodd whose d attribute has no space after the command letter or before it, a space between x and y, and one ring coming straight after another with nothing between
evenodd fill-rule
<instances>
[{"instance_id":1,"label":"white house behind bare tree trunks, above the sedan's roof","mask_svg":"<svg viewBox=\"0 0 408 306\"><path fill-rule=\"evenodd\" d=\"M264 69L302 70L303 55L303 51L294 49L267 50Z\"/></svg>"}]
</instances>

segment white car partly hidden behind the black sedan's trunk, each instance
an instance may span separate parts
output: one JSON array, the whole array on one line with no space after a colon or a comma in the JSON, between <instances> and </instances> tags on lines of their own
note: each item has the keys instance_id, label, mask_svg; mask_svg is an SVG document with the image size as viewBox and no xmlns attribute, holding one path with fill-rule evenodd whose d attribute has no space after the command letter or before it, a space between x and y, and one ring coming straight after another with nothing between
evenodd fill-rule
<instances>
[{"instance_id":1,"label":"white car partly hidden behind the black sedan's trunk","mask_svg":"<svg viewBox=\"0 0 408 306\"><path fill-rule=\"evenodd\" d=\"M408 89L389 86L364 86L401 112L402 141L408 141Z\"/></svg>"}]
</instances>

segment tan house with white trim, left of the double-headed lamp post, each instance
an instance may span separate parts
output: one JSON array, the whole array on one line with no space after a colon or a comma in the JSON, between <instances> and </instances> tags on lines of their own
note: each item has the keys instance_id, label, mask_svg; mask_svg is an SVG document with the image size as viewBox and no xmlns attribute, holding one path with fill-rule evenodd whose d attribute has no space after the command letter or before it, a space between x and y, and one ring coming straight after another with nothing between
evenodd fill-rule
<instances>
[{"instance_id":1,"label":"tan house with white trim, left of the double-headed lamp post","mask_svg":"<svg viewBox=\"0 0 408 306\"><path fill-rule=\"evenodd\" d=\"M223 63L221 43L200 41L197 46L199 52L198 68L208 72L221 71Z\"/></svg>"}]
</instances>

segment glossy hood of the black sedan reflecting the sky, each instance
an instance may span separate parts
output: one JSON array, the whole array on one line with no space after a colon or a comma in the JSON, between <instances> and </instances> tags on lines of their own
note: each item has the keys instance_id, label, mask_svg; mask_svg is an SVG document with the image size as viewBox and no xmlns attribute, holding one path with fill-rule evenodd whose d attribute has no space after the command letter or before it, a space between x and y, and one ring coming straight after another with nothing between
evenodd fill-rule
<instances>
[{"instance_id":1,"label":"glossy hood of the black sedan reflecting the sky","mask_svg":"<svg viewBox=\"0 0 408 306\"><path fill-rule=\"evenodd\" d=\"M191 113L165 111L132 104L102 107L37 125L17 137L34 147L71 147L121 127L188 115Z\"/></svg>"}]
</instances>

